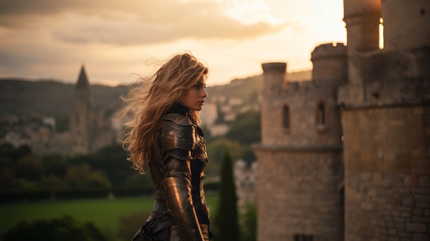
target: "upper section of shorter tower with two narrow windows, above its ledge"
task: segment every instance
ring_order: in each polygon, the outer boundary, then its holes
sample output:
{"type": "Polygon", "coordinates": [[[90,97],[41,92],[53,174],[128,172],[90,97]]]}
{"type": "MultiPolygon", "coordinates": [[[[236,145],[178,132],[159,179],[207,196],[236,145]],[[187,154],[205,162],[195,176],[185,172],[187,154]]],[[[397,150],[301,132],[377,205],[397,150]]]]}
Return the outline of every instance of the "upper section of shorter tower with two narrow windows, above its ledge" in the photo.
{"type": "MultiPolygon", "coordinates": [[[[280,65],[275,63],[278,67],[280,65]]],[[[315,86],[315,82],[288,82],[284,89],[286,65],[264,71],[262,100],[262,144],[267,146],[341,146],[337,82],[315,86]],[[318,106],[325,106],[325,124],[317,123],[318,106]],[[289,108],[289,128],[283,127],[284,106],[289,108]]]]}

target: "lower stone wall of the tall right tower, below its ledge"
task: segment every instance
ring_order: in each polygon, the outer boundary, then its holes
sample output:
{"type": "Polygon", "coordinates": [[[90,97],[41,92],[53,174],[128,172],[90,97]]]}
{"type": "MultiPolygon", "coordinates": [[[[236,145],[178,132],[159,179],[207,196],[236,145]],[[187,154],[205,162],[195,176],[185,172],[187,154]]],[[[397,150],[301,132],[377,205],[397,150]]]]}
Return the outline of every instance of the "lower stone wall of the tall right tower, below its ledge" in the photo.
{"type": "Polygon", "coordinates": [[[346,240],[429,240],[430,106],[346,109],[346,240]]]}

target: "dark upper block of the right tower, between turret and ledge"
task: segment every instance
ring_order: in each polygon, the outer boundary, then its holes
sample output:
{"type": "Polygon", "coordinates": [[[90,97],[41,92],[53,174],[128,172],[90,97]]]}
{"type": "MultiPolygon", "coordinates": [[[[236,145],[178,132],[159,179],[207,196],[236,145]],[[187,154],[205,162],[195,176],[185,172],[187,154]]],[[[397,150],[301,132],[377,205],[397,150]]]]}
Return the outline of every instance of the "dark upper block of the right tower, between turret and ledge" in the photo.
{"type": "Polygon", "coordinates": [[[430,102],[430,76],[426,72],[430,48],[374,51],[360,54],[361,82],[339,89],[338,104],[363,106],[409,106],[430,102]]]}

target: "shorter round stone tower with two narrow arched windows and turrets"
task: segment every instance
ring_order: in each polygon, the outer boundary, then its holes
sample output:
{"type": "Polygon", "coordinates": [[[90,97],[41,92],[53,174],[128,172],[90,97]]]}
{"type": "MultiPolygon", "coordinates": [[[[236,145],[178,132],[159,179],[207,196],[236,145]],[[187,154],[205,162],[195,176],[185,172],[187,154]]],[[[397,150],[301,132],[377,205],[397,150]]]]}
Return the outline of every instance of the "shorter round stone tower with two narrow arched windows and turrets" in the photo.
{"type": "Polygon", "coordinates": [[[337,89],[346,47],[320,45],[313,80],[286,81],[286,63],[262,65],[258,240],[341,240],[343,163],[337,89]]]}

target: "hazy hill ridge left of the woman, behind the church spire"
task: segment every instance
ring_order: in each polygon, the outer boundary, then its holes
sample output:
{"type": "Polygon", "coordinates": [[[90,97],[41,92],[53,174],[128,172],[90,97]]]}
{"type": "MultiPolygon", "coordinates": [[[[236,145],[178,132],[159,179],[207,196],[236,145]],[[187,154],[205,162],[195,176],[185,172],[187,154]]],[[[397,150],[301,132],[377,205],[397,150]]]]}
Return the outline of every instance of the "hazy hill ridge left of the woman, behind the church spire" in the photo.
{"type": "MultiPolygon", "coordinates": [[[[55,80],[0,79],[0,114],[69,116],[74,87],[55,80]]],[[[91,91],[94,108],[109,112],[122,106],[120,95],[126,95],[128,88],[91,85],[91,91]]]]}

